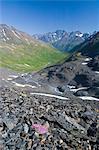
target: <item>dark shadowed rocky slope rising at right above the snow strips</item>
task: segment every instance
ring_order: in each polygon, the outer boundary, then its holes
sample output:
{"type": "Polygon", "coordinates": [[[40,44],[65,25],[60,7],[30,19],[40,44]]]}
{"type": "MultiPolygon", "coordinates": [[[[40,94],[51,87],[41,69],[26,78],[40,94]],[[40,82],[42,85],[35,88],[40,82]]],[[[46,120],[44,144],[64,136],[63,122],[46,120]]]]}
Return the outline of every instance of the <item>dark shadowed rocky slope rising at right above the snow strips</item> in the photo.
{"type": "Polygon", "coordinates": [[[45,68],[39,74],[39,80],[42,76],[42,82],[56,86],[63,93],[68,84],[70,87],[87,88],[81,90],[83,96],[83,91],[86,91],[85,95],[99,98],[99,32],[79,45],[68,61],[45,68]]]}

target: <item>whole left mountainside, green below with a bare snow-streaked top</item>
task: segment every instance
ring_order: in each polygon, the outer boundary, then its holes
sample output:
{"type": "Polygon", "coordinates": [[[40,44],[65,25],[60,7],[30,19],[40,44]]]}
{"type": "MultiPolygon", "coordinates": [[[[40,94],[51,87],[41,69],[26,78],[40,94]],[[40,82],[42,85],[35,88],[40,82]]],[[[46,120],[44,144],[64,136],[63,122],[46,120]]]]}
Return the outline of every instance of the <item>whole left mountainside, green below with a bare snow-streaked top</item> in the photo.
{"type": "Polygon", "coordinates": [[[36,71],[66,55],[53,46],[5,24],[0,25],[0,65],[18,71],[36,71]]]}

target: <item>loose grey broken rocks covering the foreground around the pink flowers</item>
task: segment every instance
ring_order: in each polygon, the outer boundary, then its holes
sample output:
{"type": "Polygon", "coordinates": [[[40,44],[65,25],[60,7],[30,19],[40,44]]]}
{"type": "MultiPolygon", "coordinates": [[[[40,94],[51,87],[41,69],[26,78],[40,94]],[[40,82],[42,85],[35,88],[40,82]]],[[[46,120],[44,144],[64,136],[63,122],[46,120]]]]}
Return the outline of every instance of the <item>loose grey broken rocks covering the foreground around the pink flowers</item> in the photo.
{"type": "Polygon", "coordinates": [[[0,90],[0,150],[98,150],[98,102],[0,90]],[[32,124],[48,125],[40,135],[32,124]]]}

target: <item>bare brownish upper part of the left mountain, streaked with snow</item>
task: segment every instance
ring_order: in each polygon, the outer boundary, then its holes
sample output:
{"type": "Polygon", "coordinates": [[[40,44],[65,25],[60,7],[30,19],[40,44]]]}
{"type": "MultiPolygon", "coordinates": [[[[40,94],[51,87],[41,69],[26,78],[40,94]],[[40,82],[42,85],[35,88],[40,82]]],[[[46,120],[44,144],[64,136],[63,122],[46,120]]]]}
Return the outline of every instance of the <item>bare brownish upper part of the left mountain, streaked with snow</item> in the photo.
{"type": "Polygon", "coordinates": [[[0,42],[13,43],[13,44],[31,44],[37,40],[33,39],[29,34],[19,31],[13,26],[0,24],[0,42]]]}

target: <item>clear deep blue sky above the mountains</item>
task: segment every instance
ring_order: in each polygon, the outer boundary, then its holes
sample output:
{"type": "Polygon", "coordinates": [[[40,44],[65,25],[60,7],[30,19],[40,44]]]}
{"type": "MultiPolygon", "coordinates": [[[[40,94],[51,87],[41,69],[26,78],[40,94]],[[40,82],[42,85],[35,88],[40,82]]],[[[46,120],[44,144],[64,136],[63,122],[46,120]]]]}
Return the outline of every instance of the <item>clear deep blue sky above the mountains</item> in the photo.
{"type": "Polygon", "coordinates": [[[0,0],[0,23],[29,34],[99,30],[99,0],[0,0]]]}

